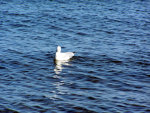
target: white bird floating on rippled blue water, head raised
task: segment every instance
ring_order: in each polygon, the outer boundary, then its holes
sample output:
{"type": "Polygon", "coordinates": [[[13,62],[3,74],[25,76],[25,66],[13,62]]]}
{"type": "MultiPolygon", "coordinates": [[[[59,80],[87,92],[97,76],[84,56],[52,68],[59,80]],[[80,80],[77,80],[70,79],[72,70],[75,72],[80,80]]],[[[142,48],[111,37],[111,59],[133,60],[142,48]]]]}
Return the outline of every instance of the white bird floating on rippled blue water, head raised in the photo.
{"type": "Polygon", "coordinates": [[[73,52],[62,53],[61,52],[61,47],[58,46],[56,54],[55,54],[55,60],[64,60],[64,61],[67,61],[67,60],[71,59],[73,56],[74,56],[73,52]]]}

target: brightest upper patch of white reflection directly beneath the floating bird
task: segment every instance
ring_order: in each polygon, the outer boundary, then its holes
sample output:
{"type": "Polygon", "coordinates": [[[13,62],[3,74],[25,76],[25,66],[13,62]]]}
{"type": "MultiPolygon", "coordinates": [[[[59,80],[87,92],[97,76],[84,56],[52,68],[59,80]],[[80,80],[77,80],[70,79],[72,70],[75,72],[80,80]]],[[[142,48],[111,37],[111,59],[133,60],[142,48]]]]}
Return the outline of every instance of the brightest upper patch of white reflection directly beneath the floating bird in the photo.
{"type": "Polygon", "coordinates": [[[64,69],[64,66],[69,66],[69,60],[55,60],[55,73],[60,74],[64,69]]]}

